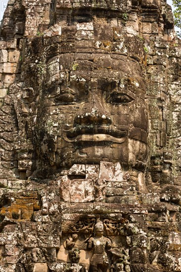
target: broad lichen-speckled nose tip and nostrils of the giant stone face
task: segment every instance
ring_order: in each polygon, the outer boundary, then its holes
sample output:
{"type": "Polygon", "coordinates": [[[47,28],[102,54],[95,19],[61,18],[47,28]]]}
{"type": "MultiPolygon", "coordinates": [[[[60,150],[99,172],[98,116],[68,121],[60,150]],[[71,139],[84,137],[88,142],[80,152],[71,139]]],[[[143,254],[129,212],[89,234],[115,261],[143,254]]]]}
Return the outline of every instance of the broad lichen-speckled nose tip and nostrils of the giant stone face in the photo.
{"type": "Polygon", "coordinates": [[[97,109],[96,106],[92,107],[84,113],[78,114],[74,119],[74,125],[82,126],[110,126],[112,124],[111,118],[106,112],[97,109]]]}

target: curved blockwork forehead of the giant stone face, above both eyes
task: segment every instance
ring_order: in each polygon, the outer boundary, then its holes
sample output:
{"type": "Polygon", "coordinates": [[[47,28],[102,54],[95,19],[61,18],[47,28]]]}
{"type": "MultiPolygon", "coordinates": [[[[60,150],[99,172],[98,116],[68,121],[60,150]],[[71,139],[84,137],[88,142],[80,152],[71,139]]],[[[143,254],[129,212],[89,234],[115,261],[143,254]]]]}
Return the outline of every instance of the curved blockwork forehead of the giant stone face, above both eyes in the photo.
{"type": "Polygon", "coordinates": [[[134,58],[118,54],[70,53],[48,61],[44,92],[54,94],[65,88],[86,93],[91,89],[132,91],[144,98],[145,80],[134,58]]]}

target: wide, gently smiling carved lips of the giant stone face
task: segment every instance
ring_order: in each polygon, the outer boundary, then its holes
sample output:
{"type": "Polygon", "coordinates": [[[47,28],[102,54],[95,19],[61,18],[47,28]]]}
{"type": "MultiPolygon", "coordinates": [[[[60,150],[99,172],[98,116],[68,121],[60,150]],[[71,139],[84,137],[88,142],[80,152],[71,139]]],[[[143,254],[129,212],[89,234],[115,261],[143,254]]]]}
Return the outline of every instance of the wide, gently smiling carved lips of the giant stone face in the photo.
{"type": "Polygon", "coordinates": [[[64,140],[74,141],[112,141],[122,143],[127,138],[127,131],[118,131],[109,127],[76,127],[66,131],[64,140]]]}

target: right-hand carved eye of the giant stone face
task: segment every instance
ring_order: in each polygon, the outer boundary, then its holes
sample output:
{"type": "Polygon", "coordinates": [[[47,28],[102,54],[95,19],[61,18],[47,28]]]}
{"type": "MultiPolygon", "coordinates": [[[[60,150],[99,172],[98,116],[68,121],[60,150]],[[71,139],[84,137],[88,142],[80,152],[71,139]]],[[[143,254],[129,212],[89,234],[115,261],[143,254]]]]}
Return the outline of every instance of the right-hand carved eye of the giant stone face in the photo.
{"type": "Polygon", "coordinates": [[[131,101],[133,101],[133,98],[122,91],[112,91],[109,97],[106,99],[106,102],[116,105],[127,104],[131,101]]]}

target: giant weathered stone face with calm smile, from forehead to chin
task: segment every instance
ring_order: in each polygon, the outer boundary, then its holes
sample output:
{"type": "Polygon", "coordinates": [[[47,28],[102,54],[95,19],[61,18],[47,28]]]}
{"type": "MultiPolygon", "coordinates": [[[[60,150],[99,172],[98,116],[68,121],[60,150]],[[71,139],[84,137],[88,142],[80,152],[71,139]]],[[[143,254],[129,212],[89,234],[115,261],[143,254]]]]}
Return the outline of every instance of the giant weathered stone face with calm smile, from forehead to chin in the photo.
{"type": "Polygon", "coordinates": [[[100,161],[144,167],[148,121],[140,60],[130,57],[126,41],[120,43],[124,53],[107,44],[102,50],[92,40],[87,51],[80,43],[62,52],[60,43],[48,56],[37,116],[38,167],[100,161]]]}

